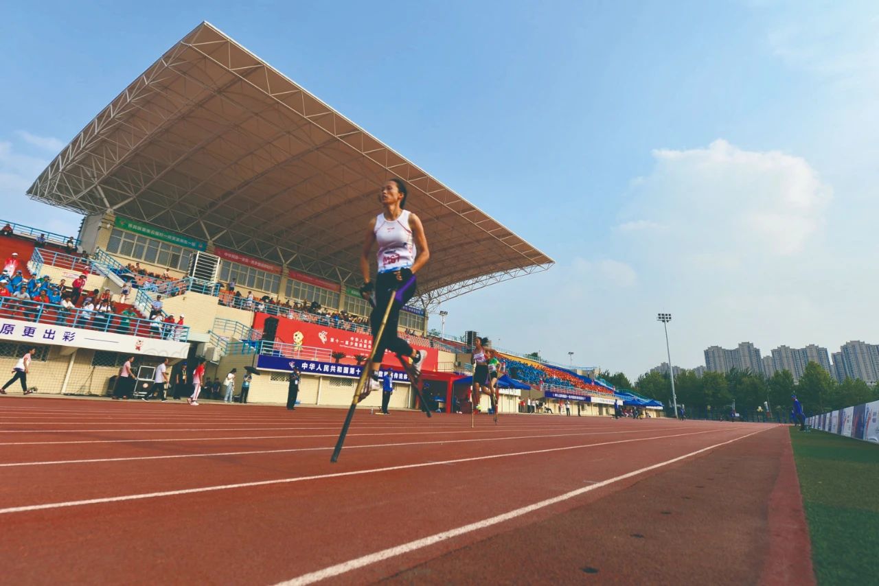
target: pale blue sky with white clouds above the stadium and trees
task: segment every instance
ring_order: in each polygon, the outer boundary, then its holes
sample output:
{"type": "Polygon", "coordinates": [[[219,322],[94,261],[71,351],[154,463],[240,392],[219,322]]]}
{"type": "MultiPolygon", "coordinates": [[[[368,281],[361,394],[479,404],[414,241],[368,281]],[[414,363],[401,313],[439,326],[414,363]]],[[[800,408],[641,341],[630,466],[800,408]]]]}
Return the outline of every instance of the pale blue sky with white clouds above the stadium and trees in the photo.
{"type": "Polygon", "coordinates": [[[76,231],[25,188],[201,20],[556,259],[447,303],[447,332],[631,377],[665,360],[657,311],[683,366],[879,342],[879,4],[22,4],[0,21],[12,220],[76,231]]]}

